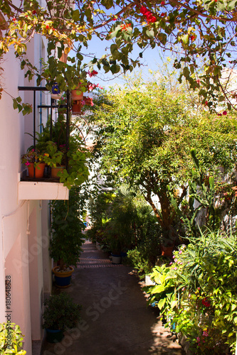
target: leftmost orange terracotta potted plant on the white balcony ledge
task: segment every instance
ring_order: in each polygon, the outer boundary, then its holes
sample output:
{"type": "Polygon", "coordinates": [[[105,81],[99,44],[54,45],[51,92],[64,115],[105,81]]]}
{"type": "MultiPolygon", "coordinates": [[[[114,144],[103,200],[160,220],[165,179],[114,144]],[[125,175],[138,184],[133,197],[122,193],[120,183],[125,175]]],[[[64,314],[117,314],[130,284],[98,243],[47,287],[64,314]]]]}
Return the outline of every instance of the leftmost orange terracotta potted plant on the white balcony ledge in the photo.
{"type": "Polygon", "coordinates": [[[27,152],[21,155],[21,163],[28,168],[28,175],[30,178],[43,178],[46,163],[44,162],[44,153],[29,147],[27,152]]]}

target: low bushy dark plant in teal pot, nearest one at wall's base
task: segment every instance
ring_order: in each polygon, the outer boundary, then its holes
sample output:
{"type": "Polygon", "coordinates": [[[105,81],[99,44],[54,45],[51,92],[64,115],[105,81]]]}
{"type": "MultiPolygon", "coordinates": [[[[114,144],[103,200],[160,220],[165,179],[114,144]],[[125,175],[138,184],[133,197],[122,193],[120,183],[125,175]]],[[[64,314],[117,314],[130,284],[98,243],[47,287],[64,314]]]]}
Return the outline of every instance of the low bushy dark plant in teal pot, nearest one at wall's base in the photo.
{"type": "Polygon", "coordinates": [[[72,329],[80,319],[81,306],[73,302],[68,293],[51,295],[43,302],[43,328],[46,329],[46,340],[51,343],[60,342],[66,328],[72,329]]]}

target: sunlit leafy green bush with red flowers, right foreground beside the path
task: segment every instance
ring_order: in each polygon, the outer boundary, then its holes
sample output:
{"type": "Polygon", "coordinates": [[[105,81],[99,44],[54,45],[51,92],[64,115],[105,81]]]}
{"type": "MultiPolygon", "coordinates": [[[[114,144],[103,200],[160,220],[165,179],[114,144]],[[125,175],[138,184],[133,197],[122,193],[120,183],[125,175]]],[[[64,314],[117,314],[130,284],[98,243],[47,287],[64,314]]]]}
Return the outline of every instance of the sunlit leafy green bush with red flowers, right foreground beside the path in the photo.
{"type": "Polygon", "coordinates": [[[180,246],[171,266],[155,267],[157,285],[145,290],[167,326],[187,337],[191,354],[234,354],[236,276],[236,236],[209,231],[180,246]]]}

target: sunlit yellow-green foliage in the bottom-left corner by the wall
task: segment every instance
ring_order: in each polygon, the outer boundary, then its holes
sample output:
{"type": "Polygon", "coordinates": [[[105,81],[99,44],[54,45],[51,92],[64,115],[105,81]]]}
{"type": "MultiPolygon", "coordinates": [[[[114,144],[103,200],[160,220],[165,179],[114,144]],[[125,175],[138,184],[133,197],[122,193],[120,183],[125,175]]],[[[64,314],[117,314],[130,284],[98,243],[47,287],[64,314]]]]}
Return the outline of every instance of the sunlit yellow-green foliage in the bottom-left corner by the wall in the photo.
{"type": "Polygon", "coordinates": [[[23,335],[19,325],[15,323],[0,323],[1,354],[24,355],[22,350],[23,335]]]}

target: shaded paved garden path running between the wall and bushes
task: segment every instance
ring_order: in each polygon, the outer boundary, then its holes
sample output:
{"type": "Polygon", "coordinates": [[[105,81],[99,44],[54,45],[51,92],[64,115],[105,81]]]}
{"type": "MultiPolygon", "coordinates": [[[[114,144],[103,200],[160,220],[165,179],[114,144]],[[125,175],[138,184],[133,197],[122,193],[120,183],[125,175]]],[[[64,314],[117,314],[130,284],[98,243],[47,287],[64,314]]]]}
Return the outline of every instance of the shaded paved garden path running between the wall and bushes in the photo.
{"type": "Polygon", "coordinates": [[[174,335],[147,307],[132,268],[114,265],[85,241],[70,293],[83,306],[78,327],[58,344],[43,341],[41,355],[183,355],[174,335]]]}

